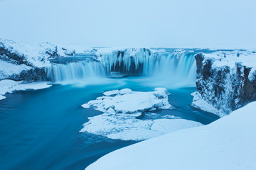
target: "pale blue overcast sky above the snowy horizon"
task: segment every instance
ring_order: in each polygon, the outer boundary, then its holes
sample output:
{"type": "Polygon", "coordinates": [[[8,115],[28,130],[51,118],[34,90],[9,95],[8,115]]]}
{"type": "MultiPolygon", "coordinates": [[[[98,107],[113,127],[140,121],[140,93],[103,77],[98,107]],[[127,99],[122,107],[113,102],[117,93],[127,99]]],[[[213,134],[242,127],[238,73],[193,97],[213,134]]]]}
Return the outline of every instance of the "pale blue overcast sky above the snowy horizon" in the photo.
{"type": "Polygon", "coordinates": [[[256,0],[0,0],[0,38],[89,47],[256,47],[256,0]]]}

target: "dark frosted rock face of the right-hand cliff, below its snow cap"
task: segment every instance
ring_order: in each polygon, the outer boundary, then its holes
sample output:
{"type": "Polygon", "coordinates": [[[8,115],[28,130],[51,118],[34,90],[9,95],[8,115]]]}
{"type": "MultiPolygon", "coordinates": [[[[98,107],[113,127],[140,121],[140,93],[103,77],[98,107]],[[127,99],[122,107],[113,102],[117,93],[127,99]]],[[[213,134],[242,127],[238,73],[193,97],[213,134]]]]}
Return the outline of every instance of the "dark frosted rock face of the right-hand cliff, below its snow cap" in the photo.
{"type": "Polygon", "coordinates": [[[230,113],[250,101],[256,101],[256,79],[248,79],[251,68],[240,63],[236,63],[235,68],[213,68],[213,59],[205,59],[202,54],[195,58],[197,90],[215,108],[230,113]]]}

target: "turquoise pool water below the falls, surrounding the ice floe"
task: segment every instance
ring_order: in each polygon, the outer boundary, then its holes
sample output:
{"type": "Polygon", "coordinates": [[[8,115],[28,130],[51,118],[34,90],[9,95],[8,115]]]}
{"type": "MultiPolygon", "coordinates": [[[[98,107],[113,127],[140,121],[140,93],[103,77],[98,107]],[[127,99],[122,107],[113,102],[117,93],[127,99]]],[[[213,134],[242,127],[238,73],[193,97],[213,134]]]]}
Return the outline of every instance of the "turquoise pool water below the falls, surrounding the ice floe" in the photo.
{"type": "MultiPolygon", "coordinates": [[[[81,105],[102,96],[103,91],[123,88],[154,90],[153,84],[147,86],[141,78],[128,77],[87,86],[53,85],[49,89],[6,95],[0,101],[0,169],[85,169],[103,155],[134,144],[79,132],[88,117],[101,114],[81,105]]],[[[203,124],[218,119],[189,106],[193,91],[196,87],[169,89],[169,102],[176,109],[157,113],[203,124]]]]}

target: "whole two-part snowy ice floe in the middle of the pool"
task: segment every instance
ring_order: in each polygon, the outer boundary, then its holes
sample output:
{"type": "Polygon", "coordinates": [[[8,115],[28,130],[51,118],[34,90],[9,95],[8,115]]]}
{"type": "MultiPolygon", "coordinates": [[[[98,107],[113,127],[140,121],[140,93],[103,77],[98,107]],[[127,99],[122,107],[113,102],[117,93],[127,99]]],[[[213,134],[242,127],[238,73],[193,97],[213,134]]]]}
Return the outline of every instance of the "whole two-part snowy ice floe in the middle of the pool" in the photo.
{"type": "MultiPolygon", "coordinates": [[[[103,112],[89,118],[80,132],[89,132],[115,140],[146,140],[183,128],[191,128],[201,123],[177,119],[163,115],[158,119],[144,118],[146,113],[156,109],[174,108],[168,101],[169,92],[165,88],[141,92],[131,89],[106,91],[105,96],[89,101],[83,108],[93,107],[103,112]]],[[[149,114],[150,115],[150,114],[149,114]]]]}

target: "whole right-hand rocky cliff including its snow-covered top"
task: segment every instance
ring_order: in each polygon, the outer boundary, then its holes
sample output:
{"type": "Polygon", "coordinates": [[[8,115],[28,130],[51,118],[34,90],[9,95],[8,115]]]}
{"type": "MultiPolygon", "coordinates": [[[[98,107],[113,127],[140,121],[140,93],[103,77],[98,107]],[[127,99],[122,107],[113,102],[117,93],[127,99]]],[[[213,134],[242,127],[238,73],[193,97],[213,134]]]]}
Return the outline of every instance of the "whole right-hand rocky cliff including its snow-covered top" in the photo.
{"type": "Polygon", "coordinates": [[[224,113],[256,101],[254,52],[214,52],[195,58],[196,87],[205,101],[224,113]]]}

